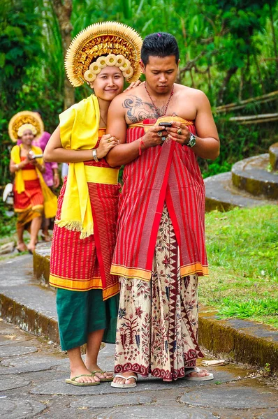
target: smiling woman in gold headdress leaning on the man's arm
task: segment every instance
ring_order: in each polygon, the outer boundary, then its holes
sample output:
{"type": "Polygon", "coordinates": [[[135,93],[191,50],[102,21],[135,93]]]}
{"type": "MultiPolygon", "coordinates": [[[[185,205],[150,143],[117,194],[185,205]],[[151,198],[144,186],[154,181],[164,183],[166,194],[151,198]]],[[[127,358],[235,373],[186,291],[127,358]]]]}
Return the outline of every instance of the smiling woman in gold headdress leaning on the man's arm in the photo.
{"type": "Polygon", "coordinates": [[[134,83],[140,76],[141,43],[133,29],[115,22],[94,24],[75,37],[66,73],[73,86],[86,81],[94,95],[60,115],[45,148],[45,161],[70,162],[52,237],[50,284],[57,287],[61,348],[70,360],[66,383],[73,385],[112,381],[112,373],[97,364],[101,341],[115,342],[119,293],[117,277],[110,274],[119,170],[104,159],[119,142],[105,134],[105,126],[124,79],[134,83]]]}

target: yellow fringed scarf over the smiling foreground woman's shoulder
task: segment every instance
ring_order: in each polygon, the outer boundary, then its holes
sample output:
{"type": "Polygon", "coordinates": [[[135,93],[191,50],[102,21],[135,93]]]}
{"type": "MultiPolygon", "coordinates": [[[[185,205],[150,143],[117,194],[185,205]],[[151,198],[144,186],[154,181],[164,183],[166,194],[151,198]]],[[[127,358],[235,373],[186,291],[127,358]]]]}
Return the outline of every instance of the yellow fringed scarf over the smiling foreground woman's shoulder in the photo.
{"type": "MultiPolygon", "coordinates": [[[[61,113],[59,115],[61,145],[73,150],[93,149],[98,141],[99,115],[98,99],[94,95],[61,113]]],[[[61,219],[56,220],[55,223],[68,230],[80,231],[80,239],[94,233],[92,208],[83,162],[69,164],[61,219]]]]}

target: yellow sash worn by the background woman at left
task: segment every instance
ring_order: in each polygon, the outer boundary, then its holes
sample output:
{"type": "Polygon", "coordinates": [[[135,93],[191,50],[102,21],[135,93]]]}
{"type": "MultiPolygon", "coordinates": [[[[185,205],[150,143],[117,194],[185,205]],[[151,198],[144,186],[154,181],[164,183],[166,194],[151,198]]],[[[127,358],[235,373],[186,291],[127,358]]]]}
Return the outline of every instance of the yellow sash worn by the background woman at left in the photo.
{"type": "MultiPolygon", "coordinates": [[[[34,154],[43,154],[43,151],[40,147],[35,147],[34,145],[31,146],[31,151],[34,154]]],[[[12,148],[10,153],[10,158],[13,160],[15,164],[20,164],[20,145],[15,145],[12,148]]],[[[39,164],[43,164],[43,158],[37,159],[39,164]]],[[[45,180],[43,179],[43,175],[41,174],[38,168],[36,169],[36,173],[38,175],[38,179],[40,180],[41,189],[43,191],[43,200],[44,200],[44,211],[45,211],[45,218],[52,218],[56,215],[57,212],[57,196],[49,189],[45,180]]],[[[17,170],[15,172],[15,190],[17,193],[22,193],[25,191],[24,179],[23,179],[23,172],[22,170],[17,170]]]]}

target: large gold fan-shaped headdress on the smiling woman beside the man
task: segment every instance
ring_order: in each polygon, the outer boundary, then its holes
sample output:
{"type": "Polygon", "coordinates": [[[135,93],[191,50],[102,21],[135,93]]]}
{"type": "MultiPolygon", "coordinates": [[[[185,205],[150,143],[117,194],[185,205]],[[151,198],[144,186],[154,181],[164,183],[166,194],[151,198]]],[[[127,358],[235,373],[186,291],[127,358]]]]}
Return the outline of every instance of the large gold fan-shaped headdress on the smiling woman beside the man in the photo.
{"type": "Polygon", "coordinates": [[[65,59],[68,80],[78,87],[85,81],[93,82],[102,68],[117,66],[127,82],[135,82],[141,74],[141,46],[140,35],[125,24],[92,24],[75,36],[68,47],[65,59]]]}

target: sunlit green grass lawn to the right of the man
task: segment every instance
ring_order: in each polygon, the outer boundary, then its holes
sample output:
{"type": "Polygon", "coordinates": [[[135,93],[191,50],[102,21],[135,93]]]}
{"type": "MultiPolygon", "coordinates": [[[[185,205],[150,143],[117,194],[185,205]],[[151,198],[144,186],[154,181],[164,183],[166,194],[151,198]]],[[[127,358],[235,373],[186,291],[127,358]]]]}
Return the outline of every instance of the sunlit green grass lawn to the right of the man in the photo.
{"type": "Polygon", "coordinates": [[[249,318],[278,328],[278,207],[206,214],[210,276],[200,302],[221,318],[249,318]]]}

